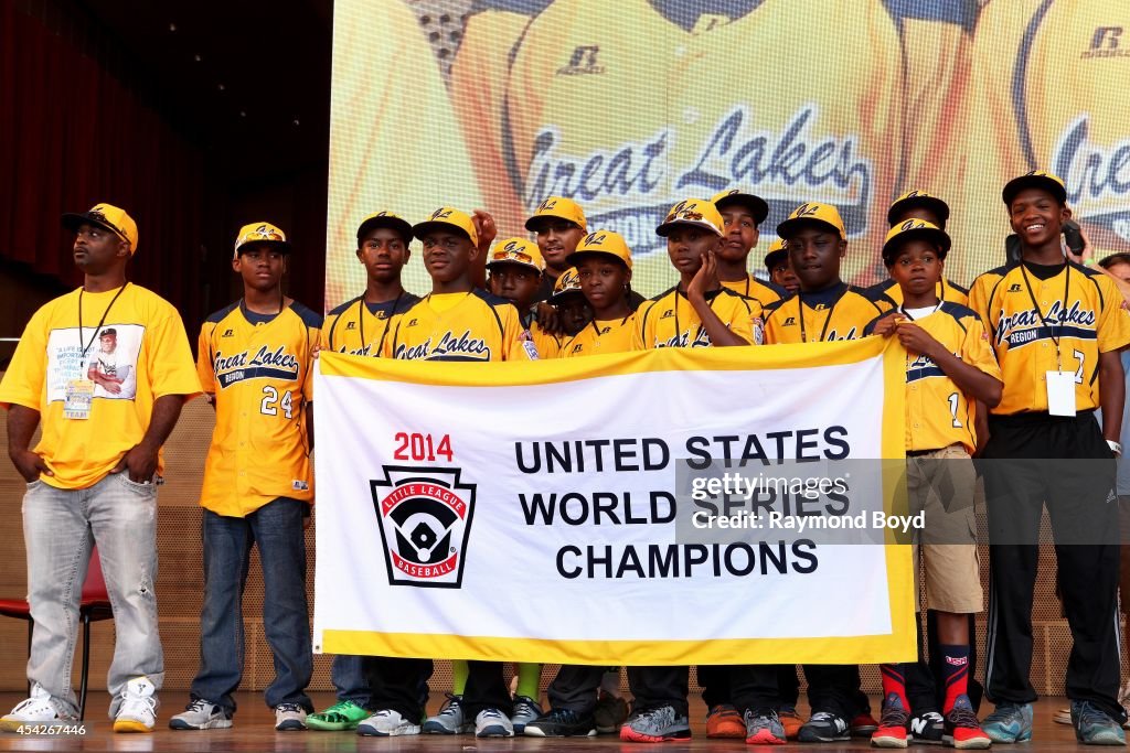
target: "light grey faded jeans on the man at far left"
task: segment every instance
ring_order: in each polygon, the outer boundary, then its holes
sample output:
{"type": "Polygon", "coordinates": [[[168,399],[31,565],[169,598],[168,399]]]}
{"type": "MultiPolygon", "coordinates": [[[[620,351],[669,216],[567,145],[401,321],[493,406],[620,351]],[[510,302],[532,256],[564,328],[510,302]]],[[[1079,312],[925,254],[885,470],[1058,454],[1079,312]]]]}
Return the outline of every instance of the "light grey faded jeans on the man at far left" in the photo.
{"type": "Polygon", "coordinates": [[[90,548],[114,608],[114,659],[106,675],[110,717],[125,683],[147,676],[159,690],[165,659],[157,634],[157,487],[112,473],[86,489],[43,481],[24,494],[27,592],[35,628],[27,678],[51,693],[61,716],[78,716],[71,665],[78,641],[78,605],[90,548]]]}

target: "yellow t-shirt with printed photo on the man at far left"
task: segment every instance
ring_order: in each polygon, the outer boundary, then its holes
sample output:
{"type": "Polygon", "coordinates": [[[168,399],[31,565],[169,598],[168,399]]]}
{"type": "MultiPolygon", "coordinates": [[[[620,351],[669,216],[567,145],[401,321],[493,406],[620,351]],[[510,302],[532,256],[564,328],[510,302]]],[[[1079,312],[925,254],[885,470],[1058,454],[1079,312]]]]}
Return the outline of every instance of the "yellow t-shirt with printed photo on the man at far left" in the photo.
{"type": "Polygon", "coordinates": [[[0,405],[40,412],[35,452],[54,473],[41,480],[60,489],[86,489],[110,473],[141,441],[158,397],[197,394],[180,314],[132,282],[104,292],[80,288],[41,307],[0,383],[0,405]],[[66,418],[68,384],[89,379],[92,371],[98,383],[89,418],[66,418]]]}

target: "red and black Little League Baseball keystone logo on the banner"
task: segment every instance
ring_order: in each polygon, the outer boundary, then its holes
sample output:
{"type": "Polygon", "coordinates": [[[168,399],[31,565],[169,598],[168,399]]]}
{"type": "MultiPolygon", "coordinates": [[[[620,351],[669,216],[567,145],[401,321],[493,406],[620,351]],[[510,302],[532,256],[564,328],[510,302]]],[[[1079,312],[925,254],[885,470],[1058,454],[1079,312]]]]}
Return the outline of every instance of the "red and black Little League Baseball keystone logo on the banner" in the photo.
{"type": "Polygon", "coordinates": [[[475,484],[461,469],[382,466],[370,481],[391,586],[459,588],[463,581],[475,484]]]}

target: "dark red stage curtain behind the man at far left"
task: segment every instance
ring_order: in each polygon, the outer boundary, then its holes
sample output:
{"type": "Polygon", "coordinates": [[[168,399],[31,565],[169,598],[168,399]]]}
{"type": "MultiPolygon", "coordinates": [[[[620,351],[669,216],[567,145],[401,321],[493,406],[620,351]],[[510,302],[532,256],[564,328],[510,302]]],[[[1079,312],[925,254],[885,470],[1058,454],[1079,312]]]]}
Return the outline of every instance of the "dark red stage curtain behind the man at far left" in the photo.
{"type": "Polygon", "coordinates": [[[205,175],[201,150],[80,44],[0,0],[0,255],[78,284],[59,216],[122,207],[138,222],[131,279],[193,332],[207,314],[205,175]]]}

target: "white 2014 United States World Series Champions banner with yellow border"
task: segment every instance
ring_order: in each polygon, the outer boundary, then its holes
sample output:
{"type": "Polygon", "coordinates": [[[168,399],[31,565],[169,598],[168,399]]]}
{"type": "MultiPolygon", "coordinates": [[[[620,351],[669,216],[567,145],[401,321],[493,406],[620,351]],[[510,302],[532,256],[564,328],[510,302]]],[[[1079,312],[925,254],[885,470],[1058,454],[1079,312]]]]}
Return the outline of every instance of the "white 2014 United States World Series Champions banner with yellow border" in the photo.
{"type": "Polygon", "coordinates": [[[909,522],[875,459],[902,457],[903,359],[881,338],[523,364],[323,351],[315,649],[912,660],[892,543],[909,522]]]}

